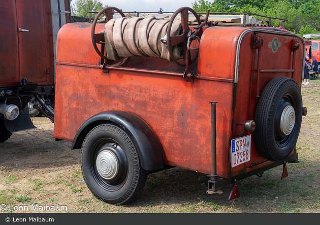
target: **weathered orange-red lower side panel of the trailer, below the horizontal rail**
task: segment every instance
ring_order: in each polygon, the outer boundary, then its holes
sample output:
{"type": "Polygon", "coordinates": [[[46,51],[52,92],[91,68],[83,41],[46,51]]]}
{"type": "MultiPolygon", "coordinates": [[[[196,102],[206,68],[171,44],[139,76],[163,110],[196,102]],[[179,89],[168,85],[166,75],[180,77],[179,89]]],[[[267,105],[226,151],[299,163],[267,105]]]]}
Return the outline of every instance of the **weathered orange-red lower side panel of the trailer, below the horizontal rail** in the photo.
{"type": "Polygon", "coordinates": [[[192,84],[182,78],[121,71],[104,74],[98,69],[66,65],[57,67],[57,80],[60,80],[58,76],[63,76],[63,82],[56,84],[56,90],[63,92],[56,94],[54,136],[57,138],[73,140],[85,120],[101,111],[129,111],[155,132],[167,164],[210,173],[209,102],[223,99],[218,103],[217,119],[226,126],[217,129],[217,146],[222,149],[229,145],[230,134],[224,127],[230,127],[231,104],[225,103],[232,99],[225,93],[232,91],[232,84],[220,86],[217,82],[199,80],[192,84]],[[217,90],[220,94],[212,96],[217,90]]]}

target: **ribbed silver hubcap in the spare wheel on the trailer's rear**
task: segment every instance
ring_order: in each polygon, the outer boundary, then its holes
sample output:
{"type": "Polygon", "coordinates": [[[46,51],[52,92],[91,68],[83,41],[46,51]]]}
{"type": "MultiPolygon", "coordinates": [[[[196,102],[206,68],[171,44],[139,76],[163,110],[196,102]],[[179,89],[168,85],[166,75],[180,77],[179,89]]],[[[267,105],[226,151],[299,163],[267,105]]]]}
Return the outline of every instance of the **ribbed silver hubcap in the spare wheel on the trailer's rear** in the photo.
{"type": "Polygon", "coordinates": [[[289,135],[295,126],[296,114],[295,109],[291,105],[284,107],[281,120],[280,120],[280,129],[283,135],[289,135]]]}

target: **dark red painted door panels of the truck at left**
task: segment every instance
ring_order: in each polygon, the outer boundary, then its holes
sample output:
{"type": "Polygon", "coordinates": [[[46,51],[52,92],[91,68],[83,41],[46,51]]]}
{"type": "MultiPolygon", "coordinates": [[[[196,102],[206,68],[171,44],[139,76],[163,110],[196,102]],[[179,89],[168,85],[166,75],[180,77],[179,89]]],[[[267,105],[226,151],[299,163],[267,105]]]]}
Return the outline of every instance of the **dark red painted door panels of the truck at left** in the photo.
{"type": "Polygon", "coordinates": [[[23,78],[54,84],[50,1],[5,1],[0,14],[0,87],[17,85],[23,78]]]}

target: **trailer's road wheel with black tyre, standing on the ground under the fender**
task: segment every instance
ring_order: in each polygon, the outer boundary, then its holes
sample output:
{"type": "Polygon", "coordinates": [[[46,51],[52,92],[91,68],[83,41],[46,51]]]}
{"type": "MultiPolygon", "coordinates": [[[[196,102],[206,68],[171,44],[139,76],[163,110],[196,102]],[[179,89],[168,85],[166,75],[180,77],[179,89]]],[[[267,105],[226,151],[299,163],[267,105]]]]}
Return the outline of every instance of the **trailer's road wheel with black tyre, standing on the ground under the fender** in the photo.
{"type": "Polygon", "coordinates": [[[91,193],[115,205],[134,200],[148,176],[134,142],[113,124],[99,125],[87,134],[81,148],[81,169],[91,193]]]}

